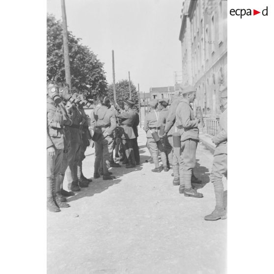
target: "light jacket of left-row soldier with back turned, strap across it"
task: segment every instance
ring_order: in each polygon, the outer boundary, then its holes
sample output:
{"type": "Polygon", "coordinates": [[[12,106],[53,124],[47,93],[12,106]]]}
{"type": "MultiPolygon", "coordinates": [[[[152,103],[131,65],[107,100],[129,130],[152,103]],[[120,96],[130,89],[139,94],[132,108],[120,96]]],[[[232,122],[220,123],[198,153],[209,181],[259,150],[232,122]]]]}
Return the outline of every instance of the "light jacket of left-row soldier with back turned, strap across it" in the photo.
{"type": "Polygon", "coordinates": [[[98,134],[112,135],[116,127],[116,118],[113,110],[107,106],[97,106],[90,117],[91,128],[98,134]]]}

